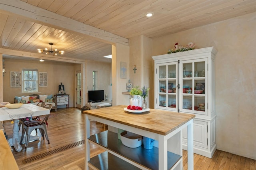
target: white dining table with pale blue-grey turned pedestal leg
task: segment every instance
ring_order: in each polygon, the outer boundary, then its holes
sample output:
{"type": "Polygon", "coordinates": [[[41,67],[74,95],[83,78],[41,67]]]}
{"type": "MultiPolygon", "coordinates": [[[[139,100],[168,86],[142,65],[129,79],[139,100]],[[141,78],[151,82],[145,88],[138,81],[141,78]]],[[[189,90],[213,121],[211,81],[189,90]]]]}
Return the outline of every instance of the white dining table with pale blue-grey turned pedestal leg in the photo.
{"type": "MultiPolygon", "coordinates": [[[[8,109],[7,107],[0,108],[0,121],[14,121],[13,129],[12,129],[12,138],[8,139],[10,146],[14,146],[16,151],[22,150],[22,146],[20,146],[20,136],[19,136],[19,128],[18,123],[20,118],[41,116],[41,115],[49,115],[50,110],[39,107],[33,104],[24,104],[20,108],[17,109],[8,109]]],[[[37,136],[38,138],[38,136],[37,136]]],[[[35,140],[35,139],[34,139],[35,140]]]]}

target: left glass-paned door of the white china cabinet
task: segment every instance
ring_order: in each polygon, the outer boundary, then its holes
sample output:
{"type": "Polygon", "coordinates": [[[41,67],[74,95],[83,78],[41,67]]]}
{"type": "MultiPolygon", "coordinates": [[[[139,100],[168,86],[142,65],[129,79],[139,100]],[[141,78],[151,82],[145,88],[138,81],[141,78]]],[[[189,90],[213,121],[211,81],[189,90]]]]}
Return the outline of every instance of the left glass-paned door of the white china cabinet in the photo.
{"type": "Polygon", "coordinates": [[[164,63],[158,65],[158,92],[157,92],[157,103],[156,107],[161,109],[177,111],[177,62],[164,63]]]}

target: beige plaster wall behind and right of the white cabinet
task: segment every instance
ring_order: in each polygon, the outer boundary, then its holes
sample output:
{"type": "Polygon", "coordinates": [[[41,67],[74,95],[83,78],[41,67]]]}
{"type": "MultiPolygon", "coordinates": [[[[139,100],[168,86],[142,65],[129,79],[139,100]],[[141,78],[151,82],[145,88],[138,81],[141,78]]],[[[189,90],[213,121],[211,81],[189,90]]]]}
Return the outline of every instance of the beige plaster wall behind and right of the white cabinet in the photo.
{"type": "Polygon", "coordinates": [[[216,47],[217,149],[256,159],[256,13],[155,38],[152,55],[176,42],[216,47]]]}

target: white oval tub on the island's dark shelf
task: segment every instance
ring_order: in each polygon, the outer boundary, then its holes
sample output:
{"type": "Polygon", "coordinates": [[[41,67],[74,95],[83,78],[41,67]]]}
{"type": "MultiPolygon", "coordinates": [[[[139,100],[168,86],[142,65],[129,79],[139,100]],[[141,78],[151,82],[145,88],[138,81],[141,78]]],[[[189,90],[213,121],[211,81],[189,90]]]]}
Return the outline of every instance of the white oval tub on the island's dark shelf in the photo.
{"type": "Polygon", "coordinates": [[[120,135],[122,144],[129,148],[137,148],[142,145],[142,136],[132,133],[132,132],[127,132],[124,131],[120,135]]]}

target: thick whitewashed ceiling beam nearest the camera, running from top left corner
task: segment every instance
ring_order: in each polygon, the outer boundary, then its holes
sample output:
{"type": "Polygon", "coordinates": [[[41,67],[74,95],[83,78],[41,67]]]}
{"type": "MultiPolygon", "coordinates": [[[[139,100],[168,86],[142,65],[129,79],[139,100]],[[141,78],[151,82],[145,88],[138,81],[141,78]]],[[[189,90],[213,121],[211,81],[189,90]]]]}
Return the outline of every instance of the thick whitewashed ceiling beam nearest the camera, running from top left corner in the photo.
{"type": "Polygon", "coordinates": [[[16,14],[31,22],[66,32],[71,32],[73,34],[78,34],[80,36],[90,36],[90,38],[94,38],[101,42],[129,45],[129,40],[127,38],[123,38],[99,28],[83,24],[76,20],[72,20],[20,0],[1,0],[0,12],[7,13],[9,15],[16,14]]]}

